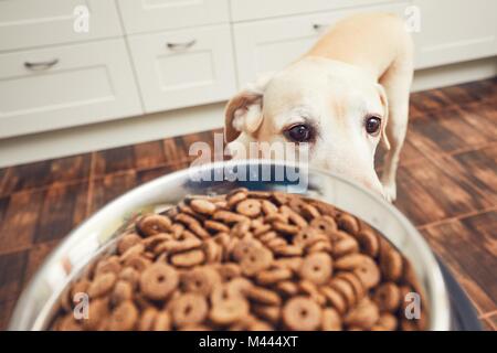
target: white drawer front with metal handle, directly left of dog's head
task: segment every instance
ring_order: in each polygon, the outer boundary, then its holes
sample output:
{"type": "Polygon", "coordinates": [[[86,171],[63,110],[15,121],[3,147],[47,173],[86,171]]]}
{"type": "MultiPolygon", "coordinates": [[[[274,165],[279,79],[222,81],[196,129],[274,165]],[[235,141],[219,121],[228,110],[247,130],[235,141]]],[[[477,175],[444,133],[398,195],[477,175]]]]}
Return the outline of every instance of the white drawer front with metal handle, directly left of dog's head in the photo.
{"type": "Polygon", "coordinates": [[[220,101],[234,92],[228,25],[135,35],[129,46],[147,113],[220,101]]]}

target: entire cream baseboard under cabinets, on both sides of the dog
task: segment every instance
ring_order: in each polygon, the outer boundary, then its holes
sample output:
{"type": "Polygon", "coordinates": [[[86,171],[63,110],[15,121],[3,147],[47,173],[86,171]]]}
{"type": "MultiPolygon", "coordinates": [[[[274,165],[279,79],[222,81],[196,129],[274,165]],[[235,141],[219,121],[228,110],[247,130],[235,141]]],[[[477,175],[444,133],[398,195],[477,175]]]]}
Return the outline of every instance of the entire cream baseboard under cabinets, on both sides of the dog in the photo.
{"type": "MultiPolygon", "coordinates": [[[[413,92],[497,76],[497,56],[417,71],[413,92]]],[[[0,139],[0,168],[220,128],[225,103],[0,139]]]]}

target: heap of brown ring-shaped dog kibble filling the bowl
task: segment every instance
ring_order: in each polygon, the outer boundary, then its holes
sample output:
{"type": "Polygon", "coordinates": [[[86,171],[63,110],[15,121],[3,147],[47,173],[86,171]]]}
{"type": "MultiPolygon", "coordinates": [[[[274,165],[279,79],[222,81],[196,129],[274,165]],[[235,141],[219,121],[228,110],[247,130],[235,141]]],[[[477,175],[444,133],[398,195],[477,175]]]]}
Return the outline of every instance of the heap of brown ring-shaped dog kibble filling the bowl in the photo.
{"type": "Polygon", "coordinates": [[[362,221],[237,189],[139,216],[67,287],[52,329],[423,330],[424,307],[405,315],[411,292],[410,263],[362,221]]]}

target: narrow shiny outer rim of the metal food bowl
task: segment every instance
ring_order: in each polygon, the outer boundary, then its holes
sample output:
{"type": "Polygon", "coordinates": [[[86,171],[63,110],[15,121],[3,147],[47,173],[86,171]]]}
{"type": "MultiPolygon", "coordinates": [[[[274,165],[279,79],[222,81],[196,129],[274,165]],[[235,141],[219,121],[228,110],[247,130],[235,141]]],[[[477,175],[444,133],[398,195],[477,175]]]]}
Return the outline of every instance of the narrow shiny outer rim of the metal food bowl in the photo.
{"type": "MultiPolygon", "coordinates": [[[[184,169],[173,171],[171,173],[161,175],[155,180],[148,181],[141,185],[135,186],[131,190],[128,190],[124,194],[114,199],[109,203],[105,204],[101,210],[98,210],[93,215],[88,216],[81,224],[74,227],[63,239],[62,242],[49,254],[49,256],[43,260],[42,265],[39,267],[33,277],[29,280],[28,285],[22,290],[21,295],[18,298],[14,310],[12,311],[12,315],[9,320],[8,330],[9,331],[25,331],[33,330],[33,324],[36,320],[30,321],[30,311],[24,310],[24,308],[29,308],[30,300],[35,297],[36,289],[39,284],[43,280],[43,275],[46,272],[47,268],[52,266],[56,259],[64,253],[71,248],[72,243],[74,243],[74,234],[82,233],[85,228],[89,228],[92,224],[99,222],[99,218],[104,217],[109,210],[113,210],[115,205],[125,204],[127,200],[134,199],[136,194],[146,194],[147,190],[155,189],[158,184],[167,183],[169,180],[181,180],[186,178],[190,178],[192,173],[202,172],[202,171],[212,171],[219,168],[232,168],[235,165],[245,164],[245,165],[274,165],[282,168],[306,168],[309,173],[317,173],[321,175],[326,175],[332,179],[338,179],[340,182],[349,184],[356,189],[359,189],[361,192],[368,194],[368,196],[372,197],[376,202],[381,203],[392,215],[401,223],[403,227],[408,231],[409,234],[413,235],[410,240],[414,242],[416,248],[421,250],[421,256],[424,258],[424,267],[430,268],[429,277],[430,278],[430,288],[426,290],[426,295],[430,298],[430,307],[431,307],[431,315],[430,315],[430,324],[427,330],[433,331],[445,331],[450,330],[451,314],[450,314],[450,300],[447,288],[445,286],[445,280],[442,275],[442,270],[440,268],[436,258],[427,245],[426,240],[423,236],[417,232],[417,229],[411,224],[411,222],[403,215],[393,204],[384,200],[380,194],[374,193],[373,191],[363,188],[356,181],[351,181],[345,179],[343,176],[329,172],[322,168],[309,167],[307,163],[303,162],[288,162],[288,161],[276,161],[276,160],[267,160],[267,159],[258,159],[258,160],[230,160],[230,161],[214,161],[205,164],[187,167],[184,169]],[[436,315],[434,315],[433,308],[437,308],[436,315]]],[[[50,298],[46,299],[49,301],[50,298]]],[[[40,313],[35,315],[40,317],[40,313]]]]}

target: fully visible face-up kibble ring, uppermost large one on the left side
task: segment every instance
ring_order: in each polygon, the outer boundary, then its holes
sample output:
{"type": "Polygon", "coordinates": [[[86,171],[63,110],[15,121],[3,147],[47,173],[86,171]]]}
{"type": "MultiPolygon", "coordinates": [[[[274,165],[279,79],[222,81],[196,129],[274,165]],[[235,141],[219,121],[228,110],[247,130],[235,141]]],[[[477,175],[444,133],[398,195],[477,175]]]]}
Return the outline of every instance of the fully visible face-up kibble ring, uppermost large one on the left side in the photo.
{"type": "Polygon", "coordinates": [[[151,300],[166,299],[179,282],[178,271],[166,264],[156,263],[141,272],[140,289],[151,300]]]}

